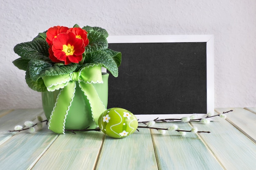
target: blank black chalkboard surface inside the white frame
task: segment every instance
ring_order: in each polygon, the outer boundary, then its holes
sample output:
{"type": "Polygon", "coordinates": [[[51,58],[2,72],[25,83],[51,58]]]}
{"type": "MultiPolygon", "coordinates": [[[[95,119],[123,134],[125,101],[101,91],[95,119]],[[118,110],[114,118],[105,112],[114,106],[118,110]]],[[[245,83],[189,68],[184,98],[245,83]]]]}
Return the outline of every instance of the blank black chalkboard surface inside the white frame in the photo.
{"type": "Polygon", "coordinates": [[[121,51],[122,63],[119,76],[109,77],[108,108],[135,115],[208,113],[207,79],[213,79],[207,75],[208,41],[152,40],[109,43],[121,51]]]}

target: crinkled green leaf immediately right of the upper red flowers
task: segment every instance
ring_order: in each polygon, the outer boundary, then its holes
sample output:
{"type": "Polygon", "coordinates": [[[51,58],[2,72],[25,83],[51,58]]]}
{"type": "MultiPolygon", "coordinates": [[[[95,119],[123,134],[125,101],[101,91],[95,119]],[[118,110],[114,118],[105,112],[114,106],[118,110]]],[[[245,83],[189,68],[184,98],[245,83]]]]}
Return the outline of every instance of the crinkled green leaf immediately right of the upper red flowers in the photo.
{"type": "Polygon", "coordinates": [[[85,47],[85,53],[94,53],[108,48],[108,41],[104,35],[98,32],[88,33],[89,44],[85,47]]]}

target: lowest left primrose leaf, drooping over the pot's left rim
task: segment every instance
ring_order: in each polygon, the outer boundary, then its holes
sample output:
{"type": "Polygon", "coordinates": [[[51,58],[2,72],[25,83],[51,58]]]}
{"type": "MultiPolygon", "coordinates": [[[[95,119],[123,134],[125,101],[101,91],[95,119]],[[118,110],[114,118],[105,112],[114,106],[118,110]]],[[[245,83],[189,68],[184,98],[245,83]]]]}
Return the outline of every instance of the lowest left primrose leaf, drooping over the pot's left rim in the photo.
{"type": "Polygon", "coordinates": [[[38,91],[38,92],[45,92],[47,91],[47,88],[45,86],[45,83],[43,82],[43,79],[40,78],[38,79],[38,81],[34,82],[30,76],[29,76],[29,72],[26,71],[26,75],[25,75],[25,79],[27,82],[27,85],[34,91],[38,91]]]}

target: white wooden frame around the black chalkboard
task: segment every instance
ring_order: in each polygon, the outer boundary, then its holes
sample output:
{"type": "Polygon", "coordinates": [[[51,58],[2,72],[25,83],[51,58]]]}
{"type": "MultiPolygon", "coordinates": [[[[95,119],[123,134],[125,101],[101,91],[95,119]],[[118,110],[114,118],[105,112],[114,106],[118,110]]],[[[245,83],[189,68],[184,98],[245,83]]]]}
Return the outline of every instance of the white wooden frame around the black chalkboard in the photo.
{"type": "MultiPolygon", "coordinates": [[[[147,42],[206,42],[207,43],[207,113],[214,113],[214,36],[213,35],[121,35],[110,36],[108,43],[147,43],[147,42]]],[[[103,69],[103,72],[106,70],[103,69]]],[[[139,121],[159,119],[180,119],[192,114],[152,114],[135,115],[139,121]]],[[[206,114],[197,114],[197,118],[206,114]]]]}

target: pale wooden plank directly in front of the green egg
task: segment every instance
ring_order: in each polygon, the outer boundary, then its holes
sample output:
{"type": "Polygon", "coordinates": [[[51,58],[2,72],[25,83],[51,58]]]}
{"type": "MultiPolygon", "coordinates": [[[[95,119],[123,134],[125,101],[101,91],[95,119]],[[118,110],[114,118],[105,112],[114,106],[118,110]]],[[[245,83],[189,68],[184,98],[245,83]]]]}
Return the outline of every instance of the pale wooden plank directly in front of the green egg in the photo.
{"type": "Polygon", "coordinates": [[[96,170],[158,170],[150,130],[121,139],[106,136],[96,170]]]}

